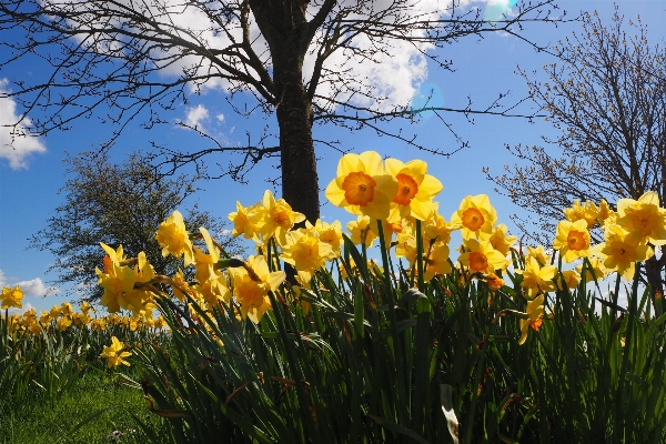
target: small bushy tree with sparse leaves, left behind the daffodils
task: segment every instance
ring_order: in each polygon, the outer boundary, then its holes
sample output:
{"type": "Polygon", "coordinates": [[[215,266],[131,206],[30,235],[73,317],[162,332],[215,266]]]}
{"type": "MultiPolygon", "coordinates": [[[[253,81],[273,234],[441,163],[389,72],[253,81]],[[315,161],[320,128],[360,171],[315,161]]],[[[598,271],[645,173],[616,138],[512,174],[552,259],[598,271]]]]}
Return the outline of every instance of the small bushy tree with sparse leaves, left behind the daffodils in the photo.
{"type": "MultiPolygon", "coordinates": [[[[160,223],[196,189],[194,180],[184,174],[169,179],[158,174],[144,154],[131,154],[124,163],[114,164],[108,154],[82,153],[67,157],[67,179],[61,194],[63,204],[47,221],[47,226],[30,239],[30,246],[50,251],[57,262],[49,271],[59,272],[57,284],[75,284],[70,295],[89,301],[101,297],[103,290],[95,285],[94,269],[103,269],[100,242],[117,249],[122,244],[128,258],[144,251],[158,274],[173,275],[182,260],[169,255],[155,240],[160,223]]],[[[223,233],[226,222],[200,211],[194,203],[183,211],[185,226],[196,233],[205,226],[211,233],[223,233]]],[[[223,243],[230,254],[242,252],[240,243],[226,238],[223,243]]],[[[185,270],[185,273],[190,272],[185,270]]]]}

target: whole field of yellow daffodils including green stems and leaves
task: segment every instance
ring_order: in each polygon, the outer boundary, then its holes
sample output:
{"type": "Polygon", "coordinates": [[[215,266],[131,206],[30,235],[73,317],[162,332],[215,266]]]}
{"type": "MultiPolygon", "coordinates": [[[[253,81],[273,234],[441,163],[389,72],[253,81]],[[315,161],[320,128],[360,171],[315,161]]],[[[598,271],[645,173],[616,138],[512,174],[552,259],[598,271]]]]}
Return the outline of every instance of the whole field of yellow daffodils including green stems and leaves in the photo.
{"type": "MultiPolygon", "coordinates": [[[[190,282],[101,244],[110,314],[6,312],[0,413],[36,386],[58,402],[102,360],[138,372],[119,377],[164,418],[158,436],[135,417],[153,442],[665,442],[666,314],[638,279],[666,243],[656,193],[575,202],[544,248],[484,194],[445,220],[442,188],[423,161],[345,154],[326,198],[353,214],[346,231],[266,191],[229,215],[255,242],[244,260],[174,212],[155,238],[190,282]]],[[[4,289],[2,309],[20,305],[4,289]]]]}

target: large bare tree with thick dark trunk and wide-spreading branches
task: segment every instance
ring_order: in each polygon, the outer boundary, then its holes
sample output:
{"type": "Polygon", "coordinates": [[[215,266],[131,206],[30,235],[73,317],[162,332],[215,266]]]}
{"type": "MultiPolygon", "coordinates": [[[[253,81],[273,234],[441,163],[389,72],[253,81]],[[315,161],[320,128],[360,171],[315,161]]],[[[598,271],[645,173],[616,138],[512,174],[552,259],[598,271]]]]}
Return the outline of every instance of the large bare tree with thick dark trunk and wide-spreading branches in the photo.
{"type": "MultiPolygon", "coordinates": [[[[512,112],[497,100],[481,109],[473,109],[471,103],[458,109],[427,103],[413,109],[408,105],[411,94],[404,93],[413,88],[412,80],[383,90],[372,82],[374,67],[407,54],[420,63],[427,59],[450,70],[451,61],[427,51],[466,36],[481,38],[490,32],[527,41],[519,34],[525,23],[563,21],[562,16],[551,17],[551,8],[557,8],[554,0],[522,1],[512,7],[511,13],[492,21],[483,17],[483,8],[463,8],[460,0],[444,3],[4,0],[0,2],[0,30],[3,36],[20,37],[0,43],[11,51],[0,68],[37,56],[41,59],[36,60],[46,61],[51,71],[42,83],[16,80],[18,89],[4,97],[22,104],[22,120],[30,112],[43,113],[41,118],[31,117],[28,132],[21,121],[17,122],[17,137],[68,129],[75,119],[110,105],[103,120],[119,128],[111,143],[142,112],[148,114],[143,123],[147,128],[167,122],[160,112],[172,110],[179,101],[186,102],[188,88],[196,92],[220,87],[229,93],[226,100],[236,112],[274,114],[278,144],[270,144],[268,132],[254,134],[254,143],[249,137],[246,147],[225,147],[202,133],[213,148],[192,152],[164,148],[168,158],[163,164],[173,169],[188,163],[202,167],[202,159],[209,154],[235,152],[240,160],[225,173],[243,180],[244,173],[261,160],[279,157],[282,196],[314,221],[320,206],[314,122],[367,128],[408,145],[443,153],[440,148],[421,145],[415,135],[391,131],[385,123],[395,119],[412,122],[426,110],[461,112],[467,119],[476,113],[512,112]],[[178,72],[178,77],[160,75],[164,72],[178,72]],[[248,103],[250,111],[244,108],[248,103]]],[[[447,128],[451,130],[451,125],[447,128]]],[[[335,141],[317,142],[336,147],[335,141]]]]}

